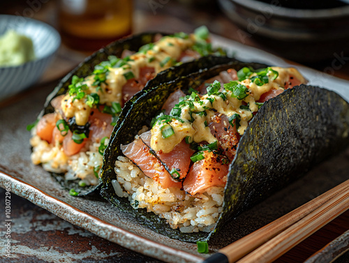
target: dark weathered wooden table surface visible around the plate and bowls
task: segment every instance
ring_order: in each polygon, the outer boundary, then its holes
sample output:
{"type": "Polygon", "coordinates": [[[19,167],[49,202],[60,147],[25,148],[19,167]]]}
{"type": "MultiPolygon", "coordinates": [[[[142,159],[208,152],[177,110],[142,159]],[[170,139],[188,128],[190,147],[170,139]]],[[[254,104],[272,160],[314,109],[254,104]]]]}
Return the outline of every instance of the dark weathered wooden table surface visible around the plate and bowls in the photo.
{"type": "MultiPolygon", "coordinates": [[[[14,6],[9,3],[1,3],[0,13],[21,14],[22,10],[27,7],[27,3],[23,4],[23,2],[18,1],[14,6]]],[[[202,6],[182,3],[185,1],[167,1],[168,3],[156,9],[156,14],[154,10],[151,10],[150,2],[148,0],[134,1],[133,28],[135,33],[152,30],[191,32],[196,27],[205,24],[211,32],[241,42],[239,36],[232,33],[239,30],[238,27],[221,13],[214,1],[204,1],[205,5],[202,6]]],[[[34,18],[55,25],[56,5],[57,1],[45,1],[40,6],[40,10],[34,14],[34,18]]],[[[274,52],[271,46],[262,45],[253,36],[246,39],[245,44],[280,55],[279,52],[274,52]]],[[[29,90],[1,103],[0,107],[6,107],[32,92],[50,93],[58,80],[86,56],[87,53],[69,50],[62,45],[57,58],[41,80],[29,90]]],[[[331,64],[332,59],[328,59],[316,63],[309,62],[307,66],[324,70],[331,64]]],[[[349,80],[349,65],[344,64],[338,70],[334,70],[334,75],[349,80]]],[[[4,222],[5,190],[1,188],[0,202],[0,221],[4,222]]],[[[12,194],[11,217],[14,225],[12,239],[17,249],[15,258],[10,262],[160,262],[101,239],[14,194],[12,194]]],[[[312,253],[348,229],[349,211],[300,243],[276,262],[303,262],[312,253]]],[[[3,231],[4,228],[1,226],[0,232],[3,233],[3,231]]],[[[1,234],[1,236],[4,235],[1,234]]],[[[0,262],[9,262],[5,257],[1,257],[3,255],[1,253],[2,251],[0,251],[0,262]]],[[[336,262],[349,262],[349,253],[339,257],[336,262]]]]}

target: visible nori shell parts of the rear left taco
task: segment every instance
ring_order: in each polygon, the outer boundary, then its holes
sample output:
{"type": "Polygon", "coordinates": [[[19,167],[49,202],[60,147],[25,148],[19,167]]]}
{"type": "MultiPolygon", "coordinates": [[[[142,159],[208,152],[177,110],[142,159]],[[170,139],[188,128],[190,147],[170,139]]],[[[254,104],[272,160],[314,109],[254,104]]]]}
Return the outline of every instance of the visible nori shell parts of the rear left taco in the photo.
{"type": "MultiPolygon", "coordinates": [[[[159,32],[151,32],[151,33],[140,33],[135,36],[131,36],[129,38],[123,38],[121,40],[115,41],[110,45],[98,50],[90,57],[87,57],[82,63],[79,64],[76,68],[74,68],[66,77],[64,77],[57,87],[54,88],[54,91],[47,96],[45,101],[44,109],[38,115],[38,119],[43,117],[45,114],[49,114],[54,112],[54,108],[51,105],[51,100],[57,96],[65,94],[68,91],[68,86],[71,84],[71,80],[73,75],[77,75],[78,77],[87,77],[91,75],[94,71],[94,67],[101,63],[102,61],[107,61],[109,56],[121,57],[121,54],[124,50],[133,50],[138,51],[142,45],[146,45],[148,43],[153,42],[154,37],[159,32]]],[[[161,35],[165,36],[167,34],[161,33],[161,35]]],[[[202,57],[195,61],[191,61],[188,63],[184,63],[177,67],[169,68],[168,70],[164,70],[161,73],[158,73],[153,80],[150,80],[147,83],[147,86],[156,87],[162,82],[168,82],[170,80],[174,80],[177,77],[189,75],[193,72],[200,70],[201,68],[211,68],[217,64],[228,63],[232,59],[229,57],[202,57]]],[[[146,86],[146,87],[147,87],[146,86]]],[[[52,176],[67,190],[70,189],[79,189],[80,193],[78,196],[88,195],[89,193],[96,190],[98,186],[86,186],[84,188],[78,185],[76,180],[74,181],[66,181],[64,179],[64,174],[57,174],[52,172],[52,176]]]]}

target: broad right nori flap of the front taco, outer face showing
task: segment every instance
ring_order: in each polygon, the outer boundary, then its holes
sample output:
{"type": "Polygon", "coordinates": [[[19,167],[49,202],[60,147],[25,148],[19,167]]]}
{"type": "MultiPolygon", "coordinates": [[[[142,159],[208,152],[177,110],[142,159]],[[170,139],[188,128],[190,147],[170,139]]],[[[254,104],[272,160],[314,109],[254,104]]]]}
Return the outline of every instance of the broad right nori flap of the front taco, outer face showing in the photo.
{"type": "Polygon", "coordinates": [[[239,142],[216,230],[345,149],[348,133],[349,104],[334,91],[302,84],[268,100],[239,142]]]}

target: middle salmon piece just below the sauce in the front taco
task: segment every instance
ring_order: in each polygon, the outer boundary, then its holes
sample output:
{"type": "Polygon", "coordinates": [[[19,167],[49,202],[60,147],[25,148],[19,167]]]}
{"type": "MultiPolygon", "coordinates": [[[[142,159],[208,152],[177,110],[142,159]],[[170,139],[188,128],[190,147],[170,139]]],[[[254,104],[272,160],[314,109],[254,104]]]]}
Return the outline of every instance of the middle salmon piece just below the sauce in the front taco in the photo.
{"type": "MultiPolygon", "coordinates": [[[[140,135],[142,142],[150,147],[151,131],[143,133],[140,135]]],[[[191,156],[194,151],[190,148],[189,144],[186,144],[184,140],[180,144],[174,146],[174,149],[169,153],[163,153],[162,151],[157,151],[155,153],[156,157],[161,161],[165,170],[172,174],[172,178],[176,181],[181,181],[188,174],[189,166],[191,165],[191,156]],[[176,171],[176,172],[174,172],[176,171]],[[179,178],[176,178],[179,174],[179,178]]]]}

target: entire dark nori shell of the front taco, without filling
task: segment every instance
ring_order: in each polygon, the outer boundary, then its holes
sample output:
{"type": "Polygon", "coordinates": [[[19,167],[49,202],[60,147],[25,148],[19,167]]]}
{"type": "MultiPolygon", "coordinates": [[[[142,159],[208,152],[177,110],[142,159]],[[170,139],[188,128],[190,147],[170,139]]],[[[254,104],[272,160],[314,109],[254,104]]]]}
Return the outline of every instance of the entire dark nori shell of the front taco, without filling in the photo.
{"type": "Polygon", "coordinates": [[[164,219],[154,213],[147,213],[146,209],[133,209],[127,198],[117,197],[112,179],[116,178],[114,162],[117,156],[122,155],[120,144],[132,142],[138,130],[147,124],[146,120],[156,115],[175,89],[186,89],[221,70],[239,70],[243,66],[258,68],[251,63],[235,61],[158,87],[148,87],[131,99],[105,151],[101,173],[103,197],[158,233],[182,241],[208,240],[239,213],[348,146],[349,105],[346,100],[333,91],[301,85],[268,100],[249,123],[230,165],[223,212],[213,232],[181,233],[170,228],[164,219]]]}

